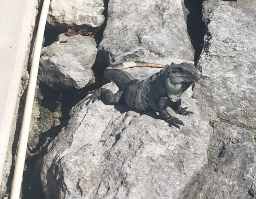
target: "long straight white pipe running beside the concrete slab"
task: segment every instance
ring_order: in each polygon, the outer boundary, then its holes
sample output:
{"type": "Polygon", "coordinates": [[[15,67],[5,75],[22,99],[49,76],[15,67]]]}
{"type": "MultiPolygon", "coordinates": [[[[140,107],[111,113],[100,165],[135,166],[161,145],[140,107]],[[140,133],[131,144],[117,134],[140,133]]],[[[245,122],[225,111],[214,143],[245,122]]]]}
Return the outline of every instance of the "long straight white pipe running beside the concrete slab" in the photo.
{"type": "Polygon", "coordinates": [[[46,18],[48,15],[49,6],[50,6],[50,0],[44,0],[39,23],[38,23],[33,60],[32,60],[32,65],[30,69],[29,85],[27,88],[26,103],[25,103],[24,115],[23,115],[23,120],[21,125],[18,153],[17,153],[17,159],[16,159],[14,176],[13,176],[13,185],[11,187],[11,197],[10,197],[11,199],[19,199],[19,195],[21,192],[22,175],[23,175],[24,163],[25,163],[26,151],[27,151],[27,141],[29,139],[30,120],[31,120],[31,115],[33,110],[35,88],[37,84],[37,73],[38,73],[38,67],[39,67],[39,61],[40,61],[40,55],[41,55],[41,49],[42,49],[42,43],[43,43],[43,34],[45,32],[45,24],[46,24],[46,18]]]}

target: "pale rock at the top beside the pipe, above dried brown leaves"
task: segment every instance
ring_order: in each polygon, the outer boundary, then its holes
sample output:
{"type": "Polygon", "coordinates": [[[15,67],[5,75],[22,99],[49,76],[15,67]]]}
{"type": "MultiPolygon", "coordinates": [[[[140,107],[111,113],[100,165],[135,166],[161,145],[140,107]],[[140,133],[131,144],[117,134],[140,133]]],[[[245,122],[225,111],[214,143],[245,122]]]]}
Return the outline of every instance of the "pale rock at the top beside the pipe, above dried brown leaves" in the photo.
{"type": "Polygon", "coordinates": [[[61,32],[70,27],[98,30],[104,22],[103,0],[51,0],[47,24],[61,32]]]}

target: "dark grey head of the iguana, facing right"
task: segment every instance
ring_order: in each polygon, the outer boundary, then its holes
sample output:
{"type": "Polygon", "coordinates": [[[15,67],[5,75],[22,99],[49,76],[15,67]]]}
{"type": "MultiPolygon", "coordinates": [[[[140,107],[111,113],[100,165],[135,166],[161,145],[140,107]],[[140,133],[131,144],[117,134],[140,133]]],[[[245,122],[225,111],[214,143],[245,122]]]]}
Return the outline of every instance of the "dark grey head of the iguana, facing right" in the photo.
{"type": "Polygon", "coordinates": [[[165,85],[169,91],[179,91],[187,89],[192,83],[198,81],[201,72],[194,64],[183,62],[173,64],[166,71],[165,85]]]}

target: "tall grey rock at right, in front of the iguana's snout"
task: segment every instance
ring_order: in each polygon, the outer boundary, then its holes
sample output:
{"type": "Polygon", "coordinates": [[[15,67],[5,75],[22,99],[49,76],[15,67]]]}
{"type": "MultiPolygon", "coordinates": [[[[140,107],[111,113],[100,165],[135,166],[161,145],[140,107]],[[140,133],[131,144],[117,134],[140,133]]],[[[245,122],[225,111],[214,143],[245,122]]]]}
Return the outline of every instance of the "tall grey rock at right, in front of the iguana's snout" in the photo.
{"type": "Polygon", "coordinates": [[[212,122],[227,121],[256,132],[256,1],[203,2],[207,23],[195,87],[212,122]]]}

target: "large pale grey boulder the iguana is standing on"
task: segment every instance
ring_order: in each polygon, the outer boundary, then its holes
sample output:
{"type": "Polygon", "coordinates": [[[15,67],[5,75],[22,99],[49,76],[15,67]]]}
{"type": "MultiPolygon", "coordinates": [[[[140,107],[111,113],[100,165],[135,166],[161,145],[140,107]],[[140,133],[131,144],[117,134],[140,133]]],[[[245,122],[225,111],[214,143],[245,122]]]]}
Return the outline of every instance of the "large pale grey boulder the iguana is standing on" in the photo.
{"type": "MultiPolygon", "coordinates": [[[[117,90],[114,83],[105,86],[117,90]]],[[[178,197],[207,164],[212,134],[202,105],[184,97],[184,106],[194,115],[177,115],[185,124],[179,130],[154,113],[140,115],[101,101],[86,106],[82,100],[48,146],[41,172],[45,197],[178,197]]]]}

